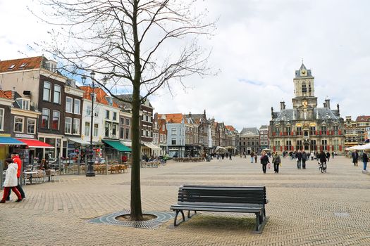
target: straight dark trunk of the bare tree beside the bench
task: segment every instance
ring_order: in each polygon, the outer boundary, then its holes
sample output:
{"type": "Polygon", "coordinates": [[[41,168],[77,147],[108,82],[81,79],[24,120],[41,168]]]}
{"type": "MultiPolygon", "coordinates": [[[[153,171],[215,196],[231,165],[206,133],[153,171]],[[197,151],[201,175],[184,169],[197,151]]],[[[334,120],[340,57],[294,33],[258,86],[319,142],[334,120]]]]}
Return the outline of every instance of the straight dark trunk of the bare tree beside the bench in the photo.
{"type": "Polygon", "coordinates": [[[142,221],[142,200],[140,189],[140,43],[137,36],[137,0],[133,2],[132,34],[134,37],[135,77],[132,82],[132,169],[131,169],[131,214],[132,221],[142,221]]]}

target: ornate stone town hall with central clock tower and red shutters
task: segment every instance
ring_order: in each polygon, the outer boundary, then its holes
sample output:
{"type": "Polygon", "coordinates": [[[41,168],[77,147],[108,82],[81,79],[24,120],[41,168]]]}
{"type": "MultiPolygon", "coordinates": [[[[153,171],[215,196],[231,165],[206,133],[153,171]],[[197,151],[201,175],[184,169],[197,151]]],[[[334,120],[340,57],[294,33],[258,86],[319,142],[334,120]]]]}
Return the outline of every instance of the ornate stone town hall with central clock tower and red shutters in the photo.
{"type": "Polygon", "coordinates": [[[324,150],[343,153],[344,121],[340,117],[339,104],[331,109],[330,100],[325,99],[323,108],[317,105],[314,95],[314,76],[302,63],[295,71],[292,109],[280,102],[280,111],[271,108],[269,138],[274,151],[324,150]]]}

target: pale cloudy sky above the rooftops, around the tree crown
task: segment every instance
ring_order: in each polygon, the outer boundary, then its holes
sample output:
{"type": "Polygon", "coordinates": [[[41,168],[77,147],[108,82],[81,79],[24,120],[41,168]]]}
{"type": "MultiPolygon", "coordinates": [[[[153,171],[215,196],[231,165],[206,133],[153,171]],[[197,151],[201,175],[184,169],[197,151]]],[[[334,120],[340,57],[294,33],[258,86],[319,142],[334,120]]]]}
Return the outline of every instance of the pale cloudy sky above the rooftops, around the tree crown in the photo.
{"type": "MultiPolygon", "coordinates": [[[[269,124],[271,106],[292,108],[293,77],[302,59],[314,75],[318,104],[326,96],[342,117],[369,115],[370,1],[205,0],[217,30],[211,48],[215,77],[189,77],[150,98],[156,112],[201,113],[242,127],[269,124]]],[[[40,56],[48,27],[27,11],[32,0],[0,0],[0,59],[40,56]]]]}

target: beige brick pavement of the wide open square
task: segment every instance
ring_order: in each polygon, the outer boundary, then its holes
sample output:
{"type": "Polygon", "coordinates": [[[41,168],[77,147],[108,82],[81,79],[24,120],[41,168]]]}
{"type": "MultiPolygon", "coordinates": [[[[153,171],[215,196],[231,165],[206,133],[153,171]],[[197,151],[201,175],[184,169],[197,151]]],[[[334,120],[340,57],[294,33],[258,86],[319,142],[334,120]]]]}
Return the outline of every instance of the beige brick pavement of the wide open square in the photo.
{"type": "Polygon", "coordinates": [[[202,212],[176,228],[90,224],[130,208],[130,174],[62,176],[0,205],[0,245],[370,245],[370,176],[360,166],[335,157],[321,174],[316,161],[298,170],[283,159],[279,174],[262,174],[261,164],[234,157],[142,169],[144,211],[169,212],[184,183],[266,186],[262,234],[253,233],[254,214],[202,212]]]}

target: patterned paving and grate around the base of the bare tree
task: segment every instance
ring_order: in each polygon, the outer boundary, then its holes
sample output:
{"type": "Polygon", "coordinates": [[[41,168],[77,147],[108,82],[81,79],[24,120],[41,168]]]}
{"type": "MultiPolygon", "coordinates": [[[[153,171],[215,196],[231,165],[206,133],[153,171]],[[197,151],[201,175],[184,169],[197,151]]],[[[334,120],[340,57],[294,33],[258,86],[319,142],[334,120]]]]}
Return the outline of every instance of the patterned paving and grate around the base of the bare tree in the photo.
{"type": "Polygon", "coordinates": [[[143,214],[152,214],[156,216],[156,218],[151,219],[149,221],[120,221],[116,219],[116,217],[118,216],[123,216],[127,214],[130,214],[130,211],[123,210],[115,212],[113,214],[106,214],[95,219],[90,219],[88,222],[94,224],[109,224],[117,226],[130,226],[142,229],[154,229],[160,226],[161,224],[164,224],[165,222],[169,221],[175,216],[175,214],[171,212],[143,212],[143,214]]]}

